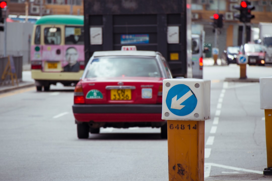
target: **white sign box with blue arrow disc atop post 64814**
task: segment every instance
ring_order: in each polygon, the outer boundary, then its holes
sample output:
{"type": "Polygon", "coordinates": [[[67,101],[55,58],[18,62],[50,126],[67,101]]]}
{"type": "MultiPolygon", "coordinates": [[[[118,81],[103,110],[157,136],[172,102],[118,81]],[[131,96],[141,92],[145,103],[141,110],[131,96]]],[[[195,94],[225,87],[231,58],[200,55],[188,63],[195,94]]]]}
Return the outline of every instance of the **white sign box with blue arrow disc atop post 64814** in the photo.
{"type": "Polygon", "coordinates": [[[211,118],[211,80],[164,79],[162,119],[204,121],[211,118]]]}

